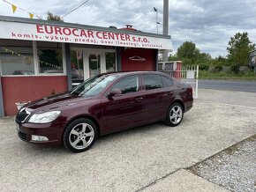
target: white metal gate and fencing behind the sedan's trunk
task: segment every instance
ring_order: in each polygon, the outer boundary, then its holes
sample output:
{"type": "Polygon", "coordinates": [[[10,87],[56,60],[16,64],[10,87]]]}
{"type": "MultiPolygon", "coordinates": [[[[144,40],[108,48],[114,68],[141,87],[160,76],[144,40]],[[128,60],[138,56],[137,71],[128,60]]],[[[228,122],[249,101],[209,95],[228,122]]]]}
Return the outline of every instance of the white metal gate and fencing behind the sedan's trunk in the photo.
{"type": "Polygon", "coordinates": [[[193,97],[198,98],[199,65],[182,65],[181,62],[160,62],[157,70],[178,81],[192,85],[193,97]]]}

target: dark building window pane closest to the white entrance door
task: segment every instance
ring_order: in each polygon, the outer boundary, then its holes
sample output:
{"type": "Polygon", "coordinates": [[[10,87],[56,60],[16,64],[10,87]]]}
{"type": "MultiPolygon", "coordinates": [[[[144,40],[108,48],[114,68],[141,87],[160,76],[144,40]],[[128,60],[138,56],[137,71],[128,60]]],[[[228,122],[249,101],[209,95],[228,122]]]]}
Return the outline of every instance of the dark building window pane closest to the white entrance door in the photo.
{"type": "Polygon", "coordinates": [[[39,73],[64,73],[62,44],[37,42],[39,73]]]}

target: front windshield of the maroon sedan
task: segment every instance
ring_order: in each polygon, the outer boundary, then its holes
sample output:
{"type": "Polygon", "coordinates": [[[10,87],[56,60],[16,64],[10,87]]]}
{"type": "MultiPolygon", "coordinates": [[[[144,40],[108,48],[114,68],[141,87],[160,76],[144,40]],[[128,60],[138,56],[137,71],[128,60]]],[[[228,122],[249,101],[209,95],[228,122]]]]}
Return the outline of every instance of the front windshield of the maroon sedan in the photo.
{"type": "Polygon", "coordinates": [[[93,97],[102,91],[109,83],[111,83],[117,76],[102,75],[94,78],[88,78],[83,83],[76,86],[71,94],[84,97],[93,97]]]}

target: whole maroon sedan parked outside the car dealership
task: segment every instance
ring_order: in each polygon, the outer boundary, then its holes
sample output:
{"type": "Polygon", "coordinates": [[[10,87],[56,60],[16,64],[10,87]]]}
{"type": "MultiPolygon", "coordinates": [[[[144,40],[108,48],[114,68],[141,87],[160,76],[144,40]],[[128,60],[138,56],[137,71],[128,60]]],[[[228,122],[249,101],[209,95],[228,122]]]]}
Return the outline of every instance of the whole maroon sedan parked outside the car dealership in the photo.
{"type": "Polygon", "coordinates": [[[86,151],[98,136],[151,122],[182,122],[192,87],[159,72],[117,72],[89,78],[72,92],[26,104],[16,116],[19,137],[86,151]]]}

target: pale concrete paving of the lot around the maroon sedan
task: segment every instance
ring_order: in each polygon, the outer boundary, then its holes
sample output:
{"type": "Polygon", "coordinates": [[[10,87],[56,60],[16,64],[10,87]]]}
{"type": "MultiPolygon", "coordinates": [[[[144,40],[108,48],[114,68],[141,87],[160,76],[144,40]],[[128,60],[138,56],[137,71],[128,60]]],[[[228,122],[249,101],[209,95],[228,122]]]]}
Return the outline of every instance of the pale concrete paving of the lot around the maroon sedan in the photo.
{"type": "Polygon", "coordinates": [[[0,119],[0,191],[225,191],[184,169],[256,134],[256,107],[243,106],[255,94],[232,92],[241,97],[236,106],[207,92],[175,128],[159,122],[125,130],[78,154],[27,144],[13,117],[0,119]]]}

